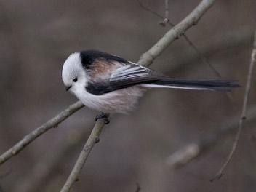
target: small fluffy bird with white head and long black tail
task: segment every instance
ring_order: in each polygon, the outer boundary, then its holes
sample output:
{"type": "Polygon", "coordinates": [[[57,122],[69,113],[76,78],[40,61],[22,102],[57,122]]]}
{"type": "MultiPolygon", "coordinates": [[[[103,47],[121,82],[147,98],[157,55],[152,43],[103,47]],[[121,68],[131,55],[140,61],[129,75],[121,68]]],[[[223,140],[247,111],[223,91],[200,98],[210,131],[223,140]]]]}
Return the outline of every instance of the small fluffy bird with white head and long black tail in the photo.
{"type": "MultiPolygon", "coordinates": [[[[89,108],[100,111],[99,118],[113,113],[129,113],[149,88],[231,91],[236,80],[176,79],[132,63],[122,57],[97,50],[74,52],[63,64],[65,90],[89,108]]],[[[108,123],[109,121],[106,121],[108,123]]]]}

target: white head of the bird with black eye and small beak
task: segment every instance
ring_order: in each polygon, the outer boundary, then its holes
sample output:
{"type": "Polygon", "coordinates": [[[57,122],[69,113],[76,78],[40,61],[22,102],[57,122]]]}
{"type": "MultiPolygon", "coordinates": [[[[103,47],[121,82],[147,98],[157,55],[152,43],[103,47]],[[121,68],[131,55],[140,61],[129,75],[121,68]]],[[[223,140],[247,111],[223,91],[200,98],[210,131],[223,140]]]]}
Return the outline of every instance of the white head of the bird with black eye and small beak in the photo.
{"type": "Polygon", "coordinates": [[[85,82],[85,71],[81,64],[81,57],[79,52],[71,54],[63,65],[62,71],[63,83],[65,89],[71,90],[76,94],[79,87],[84,86],[85,82]]]}

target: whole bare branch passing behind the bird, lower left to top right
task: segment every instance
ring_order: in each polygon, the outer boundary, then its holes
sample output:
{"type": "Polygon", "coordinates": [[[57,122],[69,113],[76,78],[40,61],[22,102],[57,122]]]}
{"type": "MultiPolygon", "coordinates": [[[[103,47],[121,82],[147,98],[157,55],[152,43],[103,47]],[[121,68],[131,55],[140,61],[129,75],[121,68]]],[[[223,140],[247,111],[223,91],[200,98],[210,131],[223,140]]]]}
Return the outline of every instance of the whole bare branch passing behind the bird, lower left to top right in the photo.
{"type": "MultiPolygon", "coordinates": [[[[204,15],[204,12],[212,7],[214,1],[215,0],[201,1],[201,3],[196,7],[196,9],[193,10],[193,12],[191,12],[190,15],[185,17],[185,19],[176,25],[175,28],[172,28],[170,31],[168,31],[163,38],[161,38],[150,50],[148,50],[148,52],[145,52],[142,57],[140,57],[138,63],[140,63],[140,65],[151,65],[153,60],[158,57],[161,52],[163,52],[164,49],[172,43],[172,41],[178,39],[180,35],[188,30],[188,28],[191,28],[191,26],[195,25],[199,21],[201,16],[204,15]]],[[[41,125],[41,127],[36,128],[33,130],[33,132],[23,137],[22,140],[20,140],[17,144],[12,146],[12,148],[0,156],[0,165],[4,164],[5,161],[22,151],[26,145],[33,142],[33,140],[42,135],[44,132],[47,132],[52,127],[57,127],[58,124],[67,119],[68,116],[71,116],[71,114],[75,113],[83,106],[84,105],[80,101],[74,103],[65,109],[65,111],[60,112],[57,116],[41,125]]]]}

